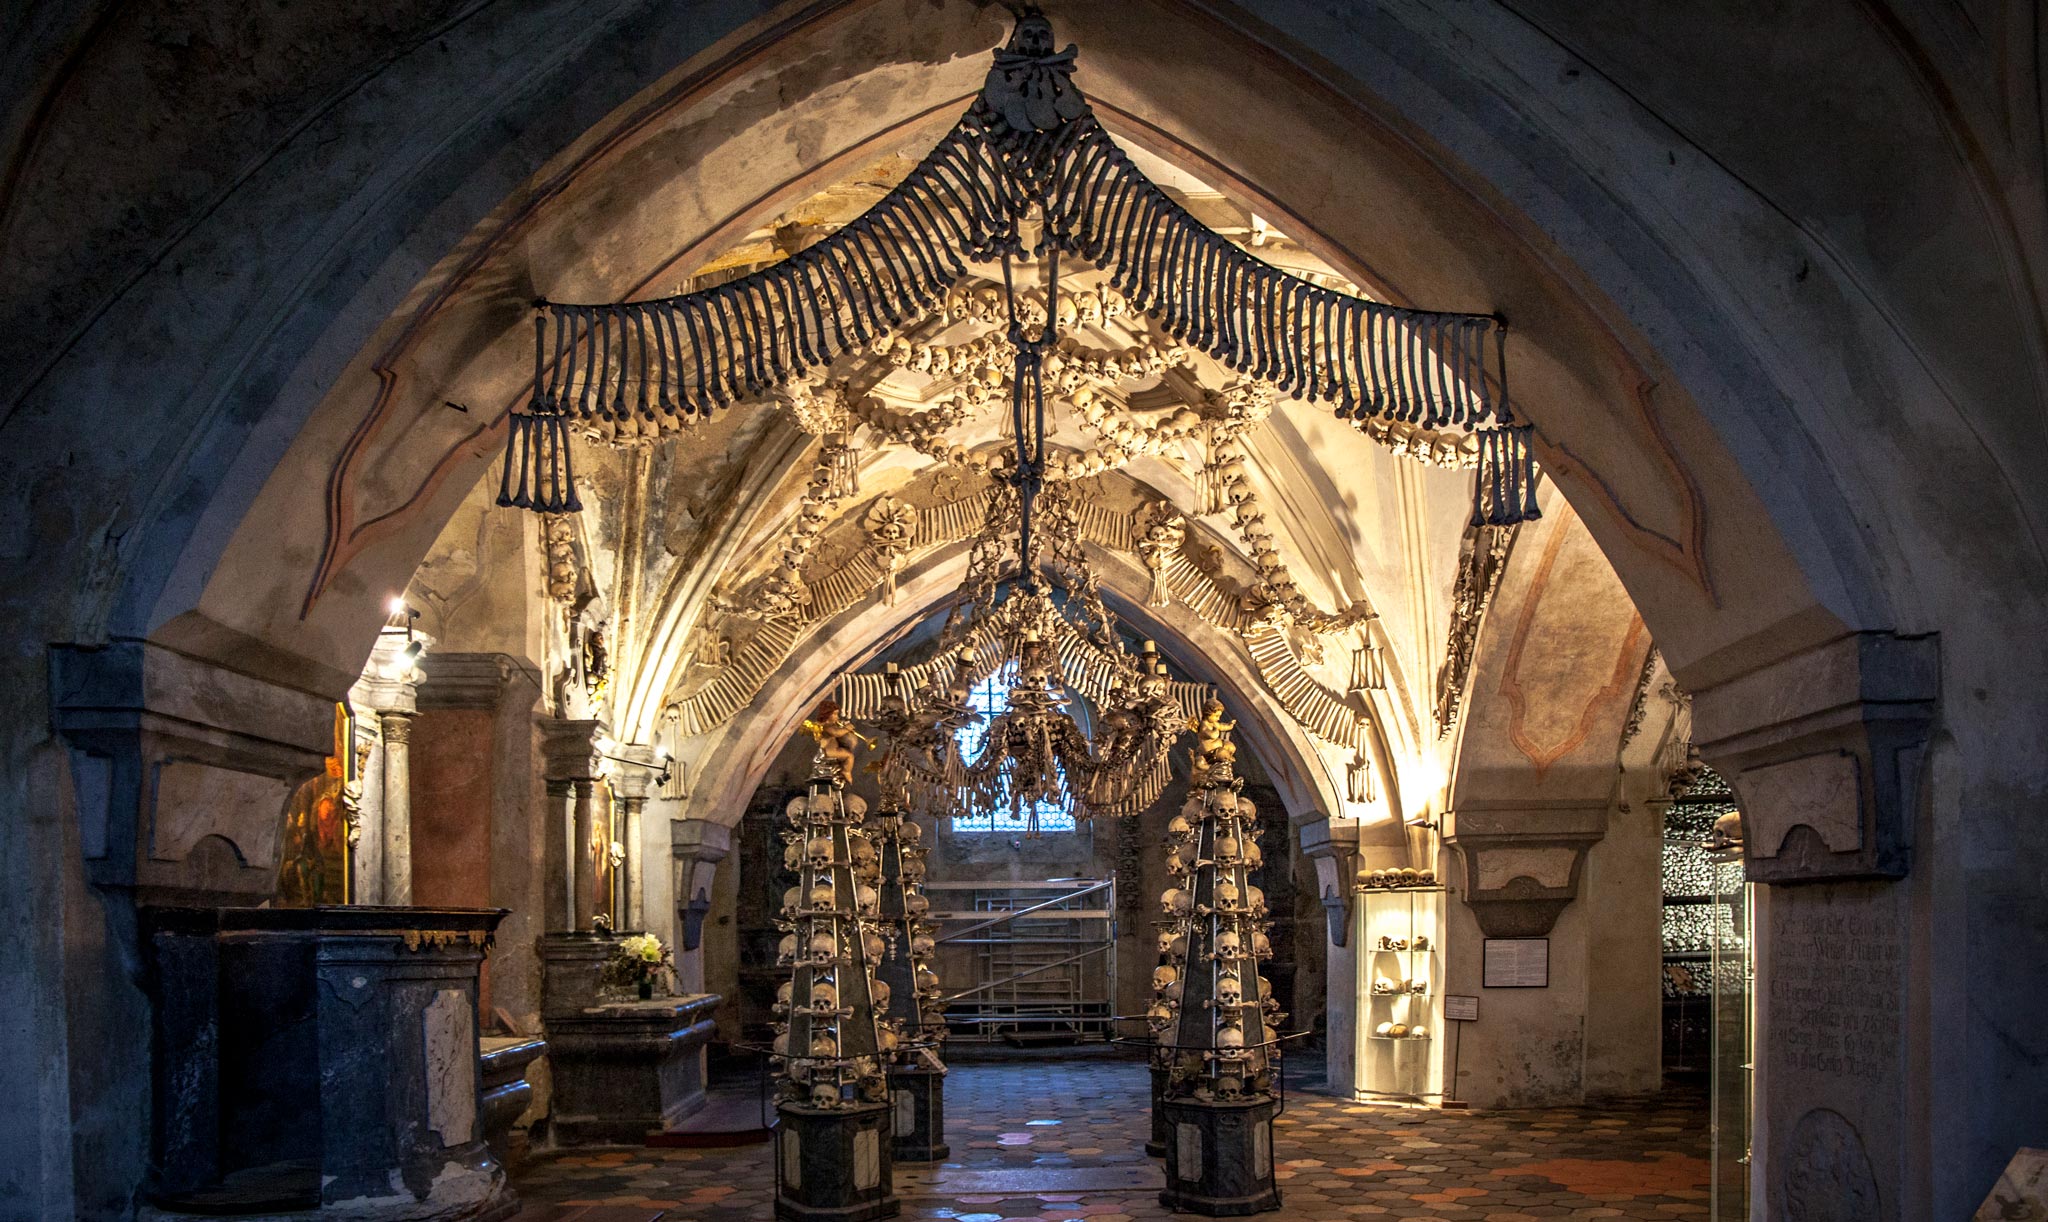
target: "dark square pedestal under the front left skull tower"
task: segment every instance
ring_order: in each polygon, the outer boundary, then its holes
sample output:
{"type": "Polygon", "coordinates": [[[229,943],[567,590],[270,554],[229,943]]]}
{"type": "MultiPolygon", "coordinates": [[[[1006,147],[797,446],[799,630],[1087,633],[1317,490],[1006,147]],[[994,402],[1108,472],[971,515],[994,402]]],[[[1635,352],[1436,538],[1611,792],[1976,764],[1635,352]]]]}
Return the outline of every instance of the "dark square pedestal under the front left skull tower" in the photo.
{"type": "Polygon", "coordinates": [[[889,1103],[778,1103],[774,1216],[788,1222],[895,1218],[889,1103]]]}

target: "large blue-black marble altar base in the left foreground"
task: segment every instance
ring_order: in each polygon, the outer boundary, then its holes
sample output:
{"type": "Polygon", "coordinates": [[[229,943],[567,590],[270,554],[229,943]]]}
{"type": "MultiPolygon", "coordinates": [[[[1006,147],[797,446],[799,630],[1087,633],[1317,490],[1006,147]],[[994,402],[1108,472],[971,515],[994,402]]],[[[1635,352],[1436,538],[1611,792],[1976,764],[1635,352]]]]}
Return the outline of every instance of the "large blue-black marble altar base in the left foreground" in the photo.
{"type": "Polygon", "coordinates": [[[477,968],[504,909],[150,909],[154,1218],[504,1218],[477,968]]]}

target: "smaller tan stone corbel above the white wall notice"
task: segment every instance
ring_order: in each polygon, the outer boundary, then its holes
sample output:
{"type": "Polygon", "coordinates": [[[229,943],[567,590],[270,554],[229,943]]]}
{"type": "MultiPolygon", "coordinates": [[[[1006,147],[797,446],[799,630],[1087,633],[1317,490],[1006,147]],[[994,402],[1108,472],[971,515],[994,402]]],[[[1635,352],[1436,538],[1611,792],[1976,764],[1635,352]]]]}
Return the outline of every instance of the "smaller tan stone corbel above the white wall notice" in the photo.
{"type": "Polygon", "coordinates": [[[1462,809],[1444,817],[1462,899],[1487,937],[1544,937],[1579,899],[1585,852],[1608,835],[1608,809],[1462,809]]]}

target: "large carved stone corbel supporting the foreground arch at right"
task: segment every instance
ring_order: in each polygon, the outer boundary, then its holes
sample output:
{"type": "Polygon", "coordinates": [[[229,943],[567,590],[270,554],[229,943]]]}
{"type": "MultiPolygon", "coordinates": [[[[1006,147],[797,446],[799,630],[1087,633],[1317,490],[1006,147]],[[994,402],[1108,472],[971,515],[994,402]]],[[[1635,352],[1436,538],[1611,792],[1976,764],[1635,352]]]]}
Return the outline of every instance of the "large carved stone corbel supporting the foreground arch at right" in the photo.
{"type": "Polygon", "coordinates": [[[1939,690],[1933,637],[1851,632],[1694,692],[1751,882],[1905,878],[1939,690]]]}

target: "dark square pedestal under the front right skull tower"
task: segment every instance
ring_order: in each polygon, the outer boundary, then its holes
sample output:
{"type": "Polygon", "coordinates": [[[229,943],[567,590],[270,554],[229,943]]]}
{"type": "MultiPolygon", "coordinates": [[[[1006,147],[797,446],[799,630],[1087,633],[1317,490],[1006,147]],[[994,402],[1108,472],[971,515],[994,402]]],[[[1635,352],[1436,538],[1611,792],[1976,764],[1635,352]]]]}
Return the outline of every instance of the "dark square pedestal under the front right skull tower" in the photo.
{"type": "Polygon", "coordinates": [[[1274,1183],[1270,1095],[1233,1103],[1167,1099],[1165,1191],[1159,1204],[1204,1218],[1241,1218],[1280,1208],[1274,1183]]]}

